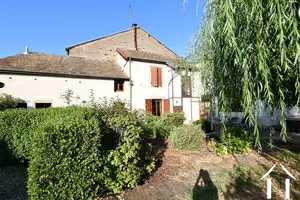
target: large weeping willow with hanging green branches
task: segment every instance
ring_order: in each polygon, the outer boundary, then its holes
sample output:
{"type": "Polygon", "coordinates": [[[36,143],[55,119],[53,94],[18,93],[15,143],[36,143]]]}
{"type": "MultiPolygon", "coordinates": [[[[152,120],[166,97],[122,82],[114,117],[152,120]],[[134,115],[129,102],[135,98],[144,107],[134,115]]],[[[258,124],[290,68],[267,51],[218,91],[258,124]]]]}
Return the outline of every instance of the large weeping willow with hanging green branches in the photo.
{"type": "Polygon", "coordinates": [[[204,86],[229,113],[239,101],[259,143],[261,102],[280,111],[300,103],[300,1],[207,0],[194,52],[204,86]]]}

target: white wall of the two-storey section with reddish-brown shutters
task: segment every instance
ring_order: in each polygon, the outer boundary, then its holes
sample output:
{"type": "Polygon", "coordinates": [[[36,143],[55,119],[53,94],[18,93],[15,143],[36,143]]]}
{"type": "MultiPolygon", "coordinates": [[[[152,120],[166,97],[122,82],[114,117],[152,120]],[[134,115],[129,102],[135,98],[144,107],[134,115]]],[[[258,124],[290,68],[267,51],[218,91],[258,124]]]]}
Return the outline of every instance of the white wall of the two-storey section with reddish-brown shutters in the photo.
{"type": "MultiPolygon", "coordinates": [[[[126,62],[120,55],[118,62],[129,76],[129,62],[126,62]]],[[[169,66],[131,61],[131,77],[133,81],[133,108],[145,109],[146,99],[169,99],[170,111],[173,111],[173,106],[182,106],[187,122],[199,119],[199,98],[182,98],[181,76],[169,66]],[[151,86],[151,67],[162,68],[162,87],[151,86]]]]}

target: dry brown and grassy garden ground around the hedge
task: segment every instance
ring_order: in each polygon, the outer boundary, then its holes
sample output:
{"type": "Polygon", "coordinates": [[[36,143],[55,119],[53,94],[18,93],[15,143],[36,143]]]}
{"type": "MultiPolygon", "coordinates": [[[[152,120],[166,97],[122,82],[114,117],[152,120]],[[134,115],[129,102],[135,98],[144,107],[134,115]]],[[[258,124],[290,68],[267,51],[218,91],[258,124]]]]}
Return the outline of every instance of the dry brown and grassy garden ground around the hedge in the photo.
{"type": "MultiPolygon", "coordinates": [[[[278,144],[281,147],[282,144],[278,144]]],[[[266,199],[266,181],[261,176],[277,161],[282,162],[299,180],[300,158],[293,153],[299,146],[288,144],[291,151],[275,148],[258,154],[218,156],[206,148],[200,152],[179,151],[159,141],[157,171],[144,184],[109,199],[266,199]],[[295,148],[293,148],[295,147],[295,148]]],[[[6,167],[0,172],[1,199],[27,199],[26,168],[6,167]]],[[[284,172],[277,167],[273,178],[273,199],[284,199],[284,172]]],[[[300,196],[300,183],[291,180],[291,197],[300,196]]]]}

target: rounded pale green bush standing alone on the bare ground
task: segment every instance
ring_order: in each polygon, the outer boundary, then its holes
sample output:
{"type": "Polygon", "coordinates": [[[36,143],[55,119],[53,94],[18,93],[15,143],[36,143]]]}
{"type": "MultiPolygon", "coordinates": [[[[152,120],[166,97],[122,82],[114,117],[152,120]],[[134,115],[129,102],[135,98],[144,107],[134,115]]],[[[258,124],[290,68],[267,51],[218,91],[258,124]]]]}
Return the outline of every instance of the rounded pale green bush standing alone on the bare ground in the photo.
{"type": "Polygon", "coordinates": [[[184,124],[176,127],[170,135],[171,146],[181,150],[200,150],[205,134],[194,124],[184,124]]]}

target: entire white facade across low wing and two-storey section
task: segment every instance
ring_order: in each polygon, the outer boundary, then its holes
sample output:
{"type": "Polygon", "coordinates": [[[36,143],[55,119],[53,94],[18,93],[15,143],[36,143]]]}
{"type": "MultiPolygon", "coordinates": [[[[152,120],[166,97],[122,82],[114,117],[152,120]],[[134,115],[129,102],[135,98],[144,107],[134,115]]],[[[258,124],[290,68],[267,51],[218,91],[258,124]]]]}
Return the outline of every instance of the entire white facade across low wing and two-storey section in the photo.
{"type": "MultiPolygon", "coordinates": [[[[146,61],[126,61],[118,56],[119,65],[133,81],[132,108],[145,109],[146,99],[169,99],[170,111],[173,106],[182,106],[187,122],[199,119],[199,98],[182,97],[181,76],[166,64],[146,61]],[[151,86],[151,66],[162,69],[162,87],[151,86]],[[173,78],[172,78],[173,77],[173,78]]],[[[123,92],[114,92],[113,79],[70,78],[42,75],[0,74],[5,84],[1,93],[10,94],[20,102],[26,102],[28,108],[35,108],[36,103],[50,103],[52,107],[66,106],[61,95],[68,89],[74,92],[71,104],[85,104],[90,101],[90,90],[95,99],[121,98],[130,101],[130,84],[124,82],[123,92]]],[[[163,111],[162,111],[163,112],[163,111]]]]}

